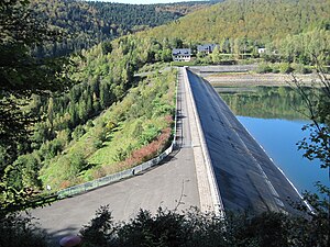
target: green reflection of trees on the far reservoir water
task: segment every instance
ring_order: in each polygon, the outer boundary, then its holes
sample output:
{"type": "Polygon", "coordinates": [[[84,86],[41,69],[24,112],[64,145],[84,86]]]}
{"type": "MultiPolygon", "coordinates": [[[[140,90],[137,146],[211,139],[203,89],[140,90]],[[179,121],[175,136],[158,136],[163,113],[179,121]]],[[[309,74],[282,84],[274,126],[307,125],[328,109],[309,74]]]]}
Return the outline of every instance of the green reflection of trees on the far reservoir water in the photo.
{"type": "Polygon", "coordinates": [[[289,87],[256,87],[256,90],[221,92],[221,98],[237,115],[261,119],[304,119],[300,96],[289,87]]]}

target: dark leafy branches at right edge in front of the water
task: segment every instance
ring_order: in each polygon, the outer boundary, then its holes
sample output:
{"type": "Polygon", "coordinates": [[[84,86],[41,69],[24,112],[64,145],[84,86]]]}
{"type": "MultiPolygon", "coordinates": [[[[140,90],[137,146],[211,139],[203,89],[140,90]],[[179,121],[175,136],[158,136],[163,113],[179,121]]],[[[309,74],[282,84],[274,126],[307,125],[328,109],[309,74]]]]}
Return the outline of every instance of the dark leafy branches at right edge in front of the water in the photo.
{"type": "MultiPolygon", "coordinates": [[[[293,83],[296,86],[299,92],[305,108],[308,110],[308,119],[311,120],[310,124],[302,127],[302,131],[308,130],[309,136],[298,142],[298,149],[305,151],[304,157],[309,160],[319,160],[320,168],[328,169],[330,179],[330,83],[328,75],[324,72],[322,66],[319,63],[319,57],[315,56],[316,64],[318,65],[318,81],[314,81],[312,93],[307,93],[306,89],[301,86],[301,81],[297,77],[293,76],[293,83]]],[[[323,226],[316,233],[315,238],[318,238],[318,234],[327,237],[322,238],[321,245],[330,244],[329,237],[329,214],[330,214],[330,189],[329,187],[316,183],[319,194],[305,193],[305,199],[310,202],[312,209],[316,211],[311,217],[314,220],[314,227],[323,226]],[[320,198],[320,197],[324,198],[320,198]]]]}

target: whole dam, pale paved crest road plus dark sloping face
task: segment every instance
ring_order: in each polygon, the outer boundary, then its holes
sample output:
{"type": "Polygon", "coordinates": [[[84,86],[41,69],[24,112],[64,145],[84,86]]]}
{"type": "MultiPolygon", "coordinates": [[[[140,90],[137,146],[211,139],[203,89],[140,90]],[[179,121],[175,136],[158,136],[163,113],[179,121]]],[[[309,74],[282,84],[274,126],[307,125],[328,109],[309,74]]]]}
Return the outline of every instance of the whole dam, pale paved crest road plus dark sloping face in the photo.
{"type": "MultiPolygon", "coordinates": [[[[215,213],[295,213],[301,201],[285,175],[240,124],[211,85],[179,68],[176,148],[160,165],[130,178],[31,211],[50,242],[78,234],[101,205],[114,221],[140,209],[178,212],[190,206],[215,213]]],[[[219,214],[218,214],[219,215],[219,214]]]]}

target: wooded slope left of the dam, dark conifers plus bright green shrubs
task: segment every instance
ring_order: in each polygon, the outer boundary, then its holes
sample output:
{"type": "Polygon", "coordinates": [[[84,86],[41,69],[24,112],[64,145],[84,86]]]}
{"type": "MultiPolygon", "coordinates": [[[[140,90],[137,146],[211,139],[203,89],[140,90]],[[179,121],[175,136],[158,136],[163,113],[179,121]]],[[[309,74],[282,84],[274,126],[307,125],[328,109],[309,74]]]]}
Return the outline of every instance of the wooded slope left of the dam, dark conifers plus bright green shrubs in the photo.
{"type": "Polygon", "coordinates": [[[102,43],[76,58],[79,69],[70,78],[81,82],[67,93],[32,94],[25,111],[38,120],[29,141],[18,144],[12,165],[2,164],[8,186],[37,192],[48,184],[56,191],[162,151],[172,135],[175,72],[145,80],[134,72],[147,63],[168,59],[163,55],[168,47],[133,36],[102,43]],[[141,149],[144,146],[148,151],[141,149]]]}

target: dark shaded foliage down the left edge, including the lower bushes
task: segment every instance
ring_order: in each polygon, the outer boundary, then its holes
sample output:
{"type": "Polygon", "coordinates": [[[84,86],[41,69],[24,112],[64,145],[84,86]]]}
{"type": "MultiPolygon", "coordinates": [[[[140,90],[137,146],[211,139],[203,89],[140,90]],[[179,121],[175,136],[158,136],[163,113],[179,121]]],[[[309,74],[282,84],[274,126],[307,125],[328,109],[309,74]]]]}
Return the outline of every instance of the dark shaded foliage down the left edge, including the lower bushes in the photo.
{"type": "Polygon", "coordinates": [[[31,128],[42,116],[28,106],[33,94],[62,93],[74,83],[68,78],[74,69],[70,58],[32,55],[32,48],[59,41],[63,34],[35,19],[28,3],[25,0],[0,3],[1,211],[24,204],[31,197],[28,187],[33,190],[40,183],[35,173],[40,166],[37,157],[28,155],[13,164],[18,155],[29,149],[31,128]],[[21,176],[24,179],[21,180],[21,176]]]}

